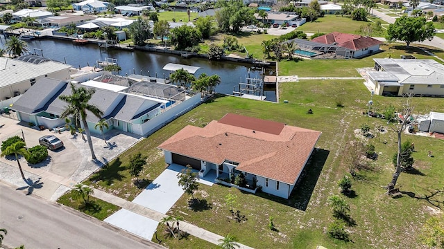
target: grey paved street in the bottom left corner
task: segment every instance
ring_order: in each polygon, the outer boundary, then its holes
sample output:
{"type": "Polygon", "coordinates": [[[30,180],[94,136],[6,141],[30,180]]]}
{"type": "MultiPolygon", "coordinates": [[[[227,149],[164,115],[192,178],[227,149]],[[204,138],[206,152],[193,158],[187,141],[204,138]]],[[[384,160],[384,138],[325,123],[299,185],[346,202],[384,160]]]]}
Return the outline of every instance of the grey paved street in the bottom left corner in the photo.
{"type": "Polygon", "coordinates": [[[12,248],[163,248],[2,184],[0,200],[3,244],[12,248]]]}

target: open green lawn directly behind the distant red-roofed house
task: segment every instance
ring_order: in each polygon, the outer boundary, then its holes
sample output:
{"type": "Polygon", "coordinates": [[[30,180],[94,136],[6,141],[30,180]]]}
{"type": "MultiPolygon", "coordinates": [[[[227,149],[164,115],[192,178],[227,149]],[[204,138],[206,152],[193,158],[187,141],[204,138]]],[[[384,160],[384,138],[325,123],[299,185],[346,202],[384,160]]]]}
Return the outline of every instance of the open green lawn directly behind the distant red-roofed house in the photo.
{"type": "Polygon", "coordinates": [[[341,33],[356,33],[361,25],[366,24],[366,21],[354,21],[349,17],[341,17],[341,15],[325,15],[313,22],[307,22],[297,28],[306,33],[332,33],[334,31],[341,33]]]}

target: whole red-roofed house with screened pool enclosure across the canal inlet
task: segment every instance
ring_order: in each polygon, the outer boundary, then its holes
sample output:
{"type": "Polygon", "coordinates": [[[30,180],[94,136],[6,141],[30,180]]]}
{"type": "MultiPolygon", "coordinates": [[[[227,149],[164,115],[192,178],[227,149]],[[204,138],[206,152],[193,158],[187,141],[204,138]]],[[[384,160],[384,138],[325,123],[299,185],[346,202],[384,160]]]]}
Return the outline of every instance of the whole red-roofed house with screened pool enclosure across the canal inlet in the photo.
{"type": "Polygon", "coordinates": [[[363,37],[361,35],[345,34],[333,32],[327,35],[321,35],[311,40],[321,44],[336,45],[341,48],[348,48],[350,55],[346,57],[357,58],[371,55],[379,50],[379,46],[383,42],[372,37],[363,37]]]}

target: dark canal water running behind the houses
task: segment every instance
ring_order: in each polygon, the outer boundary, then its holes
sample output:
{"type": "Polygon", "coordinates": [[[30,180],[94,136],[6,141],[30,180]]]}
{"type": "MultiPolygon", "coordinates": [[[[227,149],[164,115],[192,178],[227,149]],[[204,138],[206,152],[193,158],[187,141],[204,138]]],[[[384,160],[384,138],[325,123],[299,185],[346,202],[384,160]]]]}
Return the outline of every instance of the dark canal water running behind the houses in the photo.
{"type": "MultiPolygon", "coordinates": [[[[2,37],[0,44],[6,40],[2,37]]],[[[168,63],[185,64],[189,66],[198,66],[200,69],[195,76],[198,77],[201,73],[207,75],[219,75],[221,77],[221,84],[216,87],[216,92],[232,94],[233,91],[239,91],[239,82],[246,82],[248,70],[250,70],[250,77],[260,78],[262,68],[255,68],[250,64],[241,64],[236,62],[214,62],[203,58],[189,58],[185,59],[178,55],[170,55],[165,53],[153,53],[145,51],[128,51],[117,50],[113,48],[99,49],[96,44],[87,44],[85,46],[74,46],[71,42],[42,39],[26,41],[31,53],[34,51],[37,54],[43,54],[44,57],[66,62],[74,67],[93,66],[97,61],[103,61],[106,58],[117,59],[117,64],[122,68],[120,75],[128,75],[136,73],[142,75],[149,75],[155,77],[168,77],[170,71],[164,71],[162,68],[168,63]],[[34,50],[37,48],[37,50],[34,50]]],[[[275,68],[267,69],[266,75],[275,75],[275,68]]],[[[268,101],[276,101],[275,89],[265,89],[264,95],[268,101]]]]}

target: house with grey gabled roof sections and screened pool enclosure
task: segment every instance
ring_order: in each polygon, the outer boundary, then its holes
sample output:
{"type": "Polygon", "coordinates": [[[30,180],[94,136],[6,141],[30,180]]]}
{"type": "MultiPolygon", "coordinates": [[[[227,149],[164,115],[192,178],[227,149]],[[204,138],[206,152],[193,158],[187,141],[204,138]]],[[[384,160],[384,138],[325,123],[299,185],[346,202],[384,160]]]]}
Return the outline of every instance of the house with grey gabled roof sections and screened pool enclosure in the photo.
{"type": "MultiPolygon", "coordinates": [[[[134,82],[131,86],[129,84],[125,86],[120,84],[128,83],[126,77],[106,74],[97,77],[96,80],[87,80],[87,77],[81,78],[86,81],[68,82],[42,78],[28,89],[10,109],[16,111],[17,118],[21,121],[43,125],[50,129],[61,127],[65,125],[65,119],[60,118],[60,115],[65,110],[67,103],[58,97],[70,95],[70,84],[74,84],[76,87],[83,86],[95,90],[89,104],[94,104],[103,111],[101,118],[108,122],[109,129],[119,129],[144,136],[200,102],[199,94],[189,97],[183,89],[169,84],[134,82]],[[114,77],[118,79],[114,79],[114,77]],[[106,83],[114,80],[119,81],[119,84],[106,83]],[[153,91],[150,92],[146,88],[153,91]]],[[[87,111],[87,125],[92,133],[101,133],[99,129],[94,128],[99,120],[87,111]]]]}

